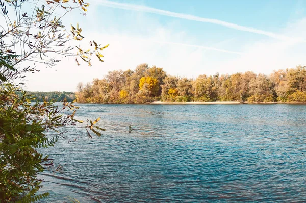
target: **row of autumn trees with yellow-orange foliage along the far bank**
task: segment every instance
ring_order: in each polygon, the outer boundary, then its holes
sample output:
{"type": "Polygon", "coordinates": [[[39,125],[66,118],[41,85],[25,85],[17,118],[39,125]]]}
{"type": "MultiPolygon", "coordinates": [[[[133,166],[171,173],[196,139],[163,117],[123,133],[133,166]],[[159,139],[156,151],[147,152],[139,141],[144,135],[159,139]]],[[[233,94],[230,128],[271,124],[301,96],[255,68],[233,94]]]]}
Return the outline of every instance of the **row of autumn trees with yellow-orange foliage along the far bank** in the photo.
{"type": "Polygon", "coordinates": [[[270,75],[247,71],[189,79],[144,63],[135,70],[109,71],[103,79],[78,83],[76,98],[79,103],[306,102],[305,67],[274,70],[270,75]]]}

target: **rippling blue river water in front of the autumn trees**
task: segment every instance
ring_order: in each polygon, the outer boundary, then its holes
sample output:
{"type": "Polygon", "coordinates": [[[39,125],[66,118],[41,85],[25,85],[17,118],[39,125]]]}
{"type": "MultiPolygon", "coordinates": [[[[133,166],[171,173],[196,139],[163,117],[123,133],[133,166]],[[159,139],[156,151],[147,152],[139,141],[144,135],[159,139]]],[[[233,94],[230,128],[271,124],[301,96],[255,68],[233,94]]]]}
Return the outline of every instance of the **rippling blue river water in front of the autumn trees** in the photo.
{"type": "Polygon", "coordinates": [[[306,201],[306,105],[79,106],[107,131],[45,150],[63,165],[41,175],[49,201],[306,201]]]}

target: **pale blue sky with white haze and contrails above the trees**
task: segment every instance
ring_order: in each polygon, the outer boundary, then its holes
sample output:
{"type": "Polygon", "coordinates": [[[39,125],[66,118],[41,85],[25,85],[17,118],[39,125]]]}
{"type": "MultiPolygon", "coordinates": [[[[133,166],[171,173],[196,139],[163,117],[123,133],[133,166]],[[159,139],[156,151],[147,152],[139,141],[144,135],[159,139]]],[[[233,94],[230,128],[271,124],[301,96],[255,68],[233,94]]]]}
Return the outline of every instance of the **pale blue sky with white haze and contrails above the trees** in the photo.
{"type": "Polygon", "coordinates": [[[84,45],[102,45],[104,62],[77,66],[62,58],[55,67],[29,74],[29,91],[76,91],[78,82],[102,79],[108,71],[138,64],[162,67],[168,74],[232,74],[306,65],[306,1],[90,0],[79,22],[84,45]]]}

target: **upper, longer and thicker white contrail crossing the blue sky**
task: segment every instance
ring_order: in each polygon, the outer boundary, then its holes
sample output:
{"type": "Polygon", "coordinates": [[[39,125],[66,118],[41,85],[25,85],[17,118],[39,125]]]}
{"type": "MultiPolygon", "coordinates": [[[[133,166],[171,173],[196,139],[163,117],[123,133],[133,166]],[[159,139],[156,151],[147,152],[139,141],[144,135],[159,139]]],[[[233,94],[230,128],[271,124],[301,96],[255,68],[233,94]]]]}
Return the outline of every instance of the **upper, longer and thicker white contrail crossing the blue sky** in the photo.
{"type": "Polygon", "coordinates": [[[226,21],[222,21],[222,20],[218,20],[218,19],[202,18],[202,17],[198,17],[198,16],[195,16],[195,15],[189,15],[189,14],[184,14],[184,13],[175,13],[175,12],[156,9],[156,8],[147,7],[147,6],[141,6],[141,5],[136,5],[136,4],[118,3],[118,2],[108,1],[108,0],[99,0],[97,2],[101,5],[103,5],[103,6],[112,7],[112,8],[133,10],[133,11],[142,11],[142,12],[154,13],[154,14],[165,15],[165,16],[170,16],[170,17],[175,17],[175,18],[182,18],[182,19],[199,21],[199,22],[209,22],[209,23],[213,23],[213,24],[219,24],[220,26],[232,28],[232,29],[235,29],[235,30],[241,30],[241,31],[246,31],[246,32],[250,32],[250,33],[257,33],[257,34],[261,34],[261,35],[266,35],[266,36],[272,37],[274,39],[279,39],[279,40],[284,40],[284,41],[306,42],[304,39],[295,39],[295,38],[287,37],[287,36],[284,36],[284,35],[279,35],[279,34],[276,34],[276,33],[268,32],[268,31],[263,31],[263,30],[259,30],[259,29],[255,29],[255,28],[240,26],[239,24],[226,22],[226,21]]]}

